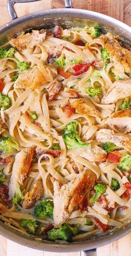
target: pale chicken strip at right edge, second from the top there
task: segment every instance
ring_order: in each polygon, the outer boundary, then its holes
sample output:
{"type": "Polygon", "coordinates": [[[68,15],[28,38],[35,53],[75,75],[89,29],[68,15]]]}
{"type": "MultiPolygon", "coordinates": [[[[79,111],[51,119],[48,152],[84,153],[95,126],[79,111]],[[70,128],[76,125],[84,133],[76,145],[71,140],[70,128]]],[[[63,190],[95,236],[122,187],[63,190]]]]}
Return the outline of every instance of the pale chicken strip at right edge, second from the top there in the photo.
{"type": "Polygon", "coordinates": [[[131,95],[131,79],[118,80],[107,91],[102,98],[102,104],[115,103],[119,99],[124,99],[131,95]]]}

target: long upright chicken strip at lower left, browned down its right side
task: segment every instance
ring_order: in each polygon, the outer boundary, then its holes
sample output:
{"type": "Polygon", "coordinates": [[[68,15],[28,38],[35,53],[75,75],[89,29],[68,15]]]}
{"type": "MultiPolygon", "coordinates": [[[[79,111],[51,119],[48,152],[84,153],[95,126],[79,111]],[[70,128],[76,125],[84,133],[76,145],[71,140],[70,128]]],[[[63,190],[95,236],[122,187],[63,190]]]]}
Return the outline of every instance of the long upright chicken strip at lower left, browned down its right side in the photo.
{"type": "Polygon", "coordinates": [[[12,168],[12,175],[9,182],[9,197],[12,198],[16,193],[16,188],[23,184],[27,178],[33,158],[33,147],[27,147],[16,154],[12,168]]]}

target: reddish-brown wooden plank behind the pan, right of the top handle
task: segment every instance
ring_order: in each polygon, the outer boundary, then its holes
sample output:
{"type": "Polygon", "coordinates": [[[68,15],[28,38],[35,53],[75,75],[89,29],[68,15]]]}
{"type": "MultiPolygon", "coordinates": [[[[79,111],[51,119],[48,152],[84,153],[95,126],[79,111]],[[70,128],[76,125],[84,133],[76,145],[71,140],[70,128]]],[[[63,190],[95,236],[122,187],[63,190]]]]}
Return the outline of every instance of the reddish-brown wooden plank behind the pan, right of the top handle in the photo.
{"type": "MultiPolygon", "coordinates": [[[[107,14],[123,21],[124,0],[73,0],[73,8],[88,9],[90,11],[107,14]]],[[[64,1],[52,0],[52,8],[64,7],[64,1]]]]}

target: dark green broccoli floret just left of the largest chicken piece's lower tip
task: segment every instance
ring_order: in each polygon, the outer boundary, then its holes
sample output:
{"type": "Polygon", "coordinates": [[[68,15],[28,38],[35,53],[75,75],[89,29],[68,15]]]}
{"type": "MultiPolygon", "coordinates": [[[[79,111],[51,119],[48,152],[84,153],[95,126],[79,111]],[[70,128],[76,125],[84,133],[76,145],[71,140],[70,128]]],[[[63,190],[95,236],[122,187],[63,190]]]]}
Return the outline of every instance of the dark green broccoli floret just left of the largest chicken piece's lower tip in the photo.
{"type": "Polygon", "coordinates": [[[34,208],[34,216],[41,219],[53,219],[53,201],[45,198],[34,208]]]}

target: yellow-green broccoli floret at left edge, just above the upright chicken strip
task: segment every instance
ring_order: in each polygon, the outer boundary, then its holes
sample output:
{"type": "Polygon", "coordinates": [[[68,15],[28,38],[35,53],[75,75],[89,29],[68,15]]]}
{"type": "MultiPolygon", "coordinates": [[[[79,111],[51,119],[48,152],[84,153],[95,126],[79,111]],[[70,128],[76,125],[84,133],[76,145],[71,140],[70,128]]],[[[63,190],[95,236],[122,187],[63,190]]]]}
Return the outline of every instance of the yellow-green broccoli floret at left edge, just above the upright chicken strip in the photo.
{"type": "Polygon", "coordinates": [[[15,149],[19,150],[17,142],[11,137],[1,137],[0,149],[3,153],[12,153],[15,149]]]}

